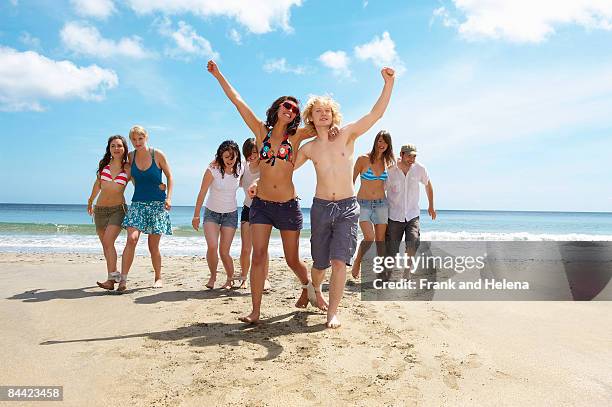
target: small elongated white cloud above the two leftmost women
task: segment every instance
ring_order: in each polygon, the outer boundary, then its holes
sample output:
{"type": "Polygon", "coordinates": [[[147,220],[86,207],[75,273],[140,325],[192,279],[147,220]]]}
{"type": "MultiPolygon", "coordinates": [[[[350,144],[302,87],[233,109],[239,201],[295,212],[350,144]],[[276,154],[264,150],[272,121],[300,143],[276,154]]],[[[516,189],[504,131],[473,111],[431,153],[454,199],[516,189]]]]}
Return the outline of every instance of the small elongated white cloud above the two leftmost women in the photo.
{"type": "Polygon", "coordinates": [[[103,38],[96,27],[85,23],[67,23],[62,28],[60,37],[68,49],[84,55],[100,58],[121,56],[137,59],[153,56],[152,53],[142,47],[140,37],[121,38],[119,41],[109,40],[103,38]]]}

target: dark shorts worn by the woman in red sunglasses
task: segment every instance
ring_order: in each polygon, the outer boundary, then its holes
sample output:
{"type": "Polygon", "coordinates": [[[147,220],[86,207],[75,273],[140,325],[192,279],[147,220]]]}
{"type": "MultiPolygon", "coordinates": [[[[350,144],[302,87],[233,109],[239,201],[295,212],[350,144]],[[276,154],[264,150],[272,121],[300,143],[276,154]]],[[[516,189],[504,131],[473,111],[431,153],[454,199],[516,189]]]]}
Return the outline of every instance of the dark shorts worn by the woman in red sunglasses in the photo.
{"type": "Polygon", "coordinates": [[[278,230],[301,230],[303,216],[297,198],[273,202],[255,197],[249,209],[249,222],[272,225],[278,230]]]}

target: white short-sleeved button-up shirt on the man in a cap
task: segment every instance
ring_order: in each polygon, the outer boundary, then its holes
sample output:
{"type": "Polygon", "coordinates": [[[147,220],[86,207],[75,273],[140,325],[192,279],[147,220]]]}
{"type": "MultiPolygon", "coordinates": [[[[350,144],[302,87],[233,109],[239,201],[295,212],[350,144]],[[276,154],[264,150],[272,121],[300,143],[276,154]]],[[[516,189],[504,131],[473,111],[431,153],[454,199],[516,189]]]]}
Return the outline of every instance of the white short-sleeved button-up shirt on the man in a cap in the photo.
{"type": "Polygon", "coordinates": [[[397,165],[389,168],[387,172],[389,177],[385,190],[389,202],[389,219],[407,222],[419,216],[419,182],[423,185],[429,183],[425,167],[415,162],[406,175],[397,165]]]}

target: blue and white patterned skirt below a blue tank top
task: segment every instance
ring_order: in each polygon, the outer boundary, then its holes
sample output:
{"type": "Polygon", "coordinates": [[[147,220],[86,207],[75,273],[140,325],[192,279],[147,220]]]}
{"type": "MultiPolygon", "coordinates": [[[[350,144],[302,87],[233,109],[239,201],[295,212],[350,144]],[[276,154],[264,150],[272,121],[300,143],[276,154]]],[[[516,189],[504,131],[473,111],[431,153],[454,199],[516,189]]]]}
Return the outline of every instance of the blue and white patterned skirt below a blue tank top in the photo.
{"type": "Polygon", "coordinates": [[[170,214],[162,201],[132,202],[122,226],[136,228],[148,235],[172,234],[170,214]]]}

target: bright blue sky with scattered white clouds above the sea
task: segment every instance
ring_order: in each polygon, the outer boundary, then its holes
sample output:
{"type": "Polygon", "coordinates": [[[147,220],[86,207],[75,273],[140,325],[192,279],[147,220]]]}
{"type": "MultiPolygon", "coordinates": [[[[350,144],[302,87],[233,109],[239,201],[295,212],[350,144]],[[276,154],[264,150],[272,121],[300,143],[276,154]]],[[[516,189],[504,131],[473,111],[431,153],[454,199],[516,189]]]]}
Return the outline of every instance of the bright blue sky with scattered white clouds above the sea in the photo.
{"type": "MultiPolygon", "coordinates": [[[[213,58],[260,118],[329,94],[345,123],[394,67],[355,151],[381,129],[415,144],[437,209],[610,212],[611,51],[601,0],[0,0],[0,202],[86,203],[107,138],[139,124],[194,205],[216,147],[252,136],[213,58]]],[[[312,164],[293,179],[310,206],[312,164]]]]}

